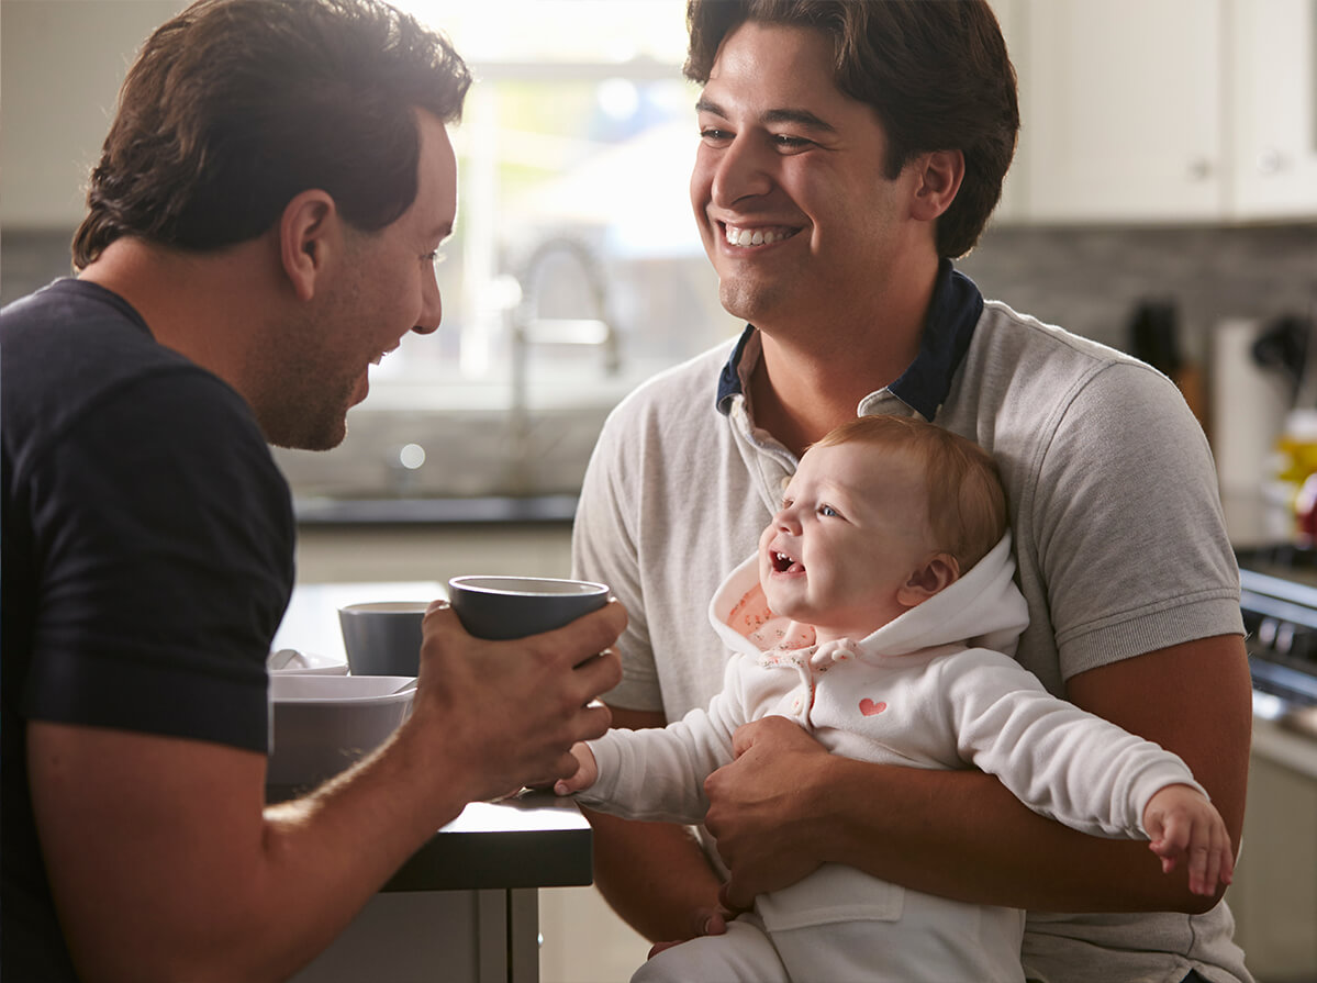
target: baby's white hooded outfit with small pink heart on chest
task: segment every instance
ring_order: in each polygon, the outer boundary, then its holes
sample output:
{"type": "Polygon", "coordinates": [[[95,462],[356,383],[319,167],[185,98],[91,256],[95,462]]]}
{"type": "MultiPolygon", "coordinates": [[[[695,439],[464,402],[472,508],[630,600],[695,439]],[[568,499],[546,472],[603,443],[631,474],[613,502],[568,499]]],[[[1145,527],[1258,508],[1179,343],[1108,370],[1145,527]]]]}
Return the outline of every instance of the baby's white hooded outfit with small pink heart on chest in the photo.
{"type": "MultiPolygon", "coordinates": [[[[848,758],[980,768],[1035,812],[1094,835],[1146,839],[1142,816],[1156,791],[1204,791],[1180,758],[1058,700],[1005,654],[1029,619],[1009,534],[948,588],[856,640],[814,644],[811,627],[769,610],[757,572],[752,556],[710,604],[732,650],[722,692],[664,729],[590,742],[599,777],[582,804],[699,824],[705,777],[732,760],[736,729],[768,714],[848,758]]],[[[1023,925],[1019,909],[934,897],[827,863],[761,895],[727,936],[669,949],[633,980],[1019,982],[1023,925]]]]}

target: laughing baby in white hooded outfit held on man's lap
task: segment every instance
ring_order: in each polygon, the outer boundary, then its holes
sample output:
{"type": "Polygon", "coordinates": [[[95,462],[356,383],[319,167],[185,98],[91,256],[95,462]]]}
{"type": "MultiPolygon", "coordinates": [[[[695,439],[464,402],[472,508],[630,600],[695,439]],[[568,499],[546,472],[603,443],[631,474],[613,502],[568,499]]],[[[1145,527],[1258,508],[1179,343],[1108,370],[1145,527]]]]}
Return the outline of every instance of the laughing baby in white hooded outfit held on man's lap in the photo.
{"type": "MultiPolygon", "coordinates": [[[[835,754],[977,767],[1093,835],[1151,839],[1191,888],[1229,883],[1225,822],[1176,755],[1048,694],[1004,652],[1027,609],[992,457],[940,427],[863,416],[801,459],[759,552],[710,605],[734,651],[707,710],[573,748],[560,795],[636,820],[698,824],[705,777],[752,719],[794,719],[835,754]]],[[[823,864],[761,895],[727,934],[666,949],[656,980],[1023,980],[1025,914],[823,864]]]]}

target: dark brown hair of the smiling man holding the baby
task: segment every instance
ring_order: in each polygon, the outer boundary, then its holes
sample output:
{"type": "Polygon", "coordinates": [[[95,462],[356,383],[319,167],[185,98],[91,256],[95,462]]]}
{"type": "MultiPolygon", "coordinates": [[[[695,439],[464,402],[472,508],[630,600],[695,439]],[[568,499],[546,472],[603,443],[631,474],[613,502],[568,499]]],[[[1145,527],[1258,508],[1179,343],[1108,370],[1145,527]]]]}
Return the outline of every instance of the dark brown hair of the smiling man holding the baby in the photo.
{"type": "Polygon", "coordinates": [[[919,153],[961,150],[965,177],[938,219],[938,254],[973,249],[1019,132],[1015,70],[986,0],[690,0],[686,78],[707,83],[723,40],[745,21],[831,36],[838,88],[882,123],[888,178],[919,153]]]}

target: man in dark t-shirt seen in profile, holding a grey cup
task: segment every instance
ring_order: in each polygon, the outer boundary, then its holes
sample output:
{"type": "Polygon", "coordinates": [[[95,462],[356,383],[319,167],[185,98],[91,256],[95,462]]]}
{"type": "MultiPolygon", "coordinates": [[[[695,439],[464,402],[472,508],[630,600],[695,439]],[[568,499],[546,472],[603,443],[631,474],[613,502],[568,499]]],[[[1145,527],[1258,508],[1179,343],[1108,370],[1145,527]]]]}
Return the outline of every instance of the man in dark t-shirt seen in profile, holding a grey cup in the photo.
{"type": "Polygon", "coordinates": [[[0,311],[0,978],[286,979],[466,802],[607,729],[620,605],[518,642],[433,605],[408,719],[265,805],[267,444],[337,444],[439,327],[469,82],[377,0],[200,0],[129,70],[79,275],[0,311]]]}

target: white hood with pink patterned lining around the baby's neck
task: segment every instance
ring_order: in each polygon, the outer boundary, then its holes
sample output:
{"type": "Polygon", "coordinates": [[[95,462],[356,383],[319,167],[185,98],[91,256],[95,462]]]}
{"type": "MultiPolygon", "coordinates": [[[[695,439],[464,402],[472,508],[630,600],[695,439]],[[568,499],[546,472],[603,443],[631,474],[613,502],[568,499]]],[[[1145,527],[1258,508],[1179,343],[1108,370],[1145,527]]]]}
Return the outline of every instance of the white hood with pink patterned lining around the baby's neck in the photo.
{"type": "MultiPolygon", "coordinates": [[[[863,656],[907,655],[923,648],[965,643],[1011,655],[1029,625],[1029,607],[1011,577],[1015,560],[1010,532],[951,586],[894,618],[865,639],[863,656]]],[[[709,619],[730,648],[757,654],[814,644],[814,630],[774,614],[759,585],[759,557],[732,571],[714,593],[709,619]]]]}

